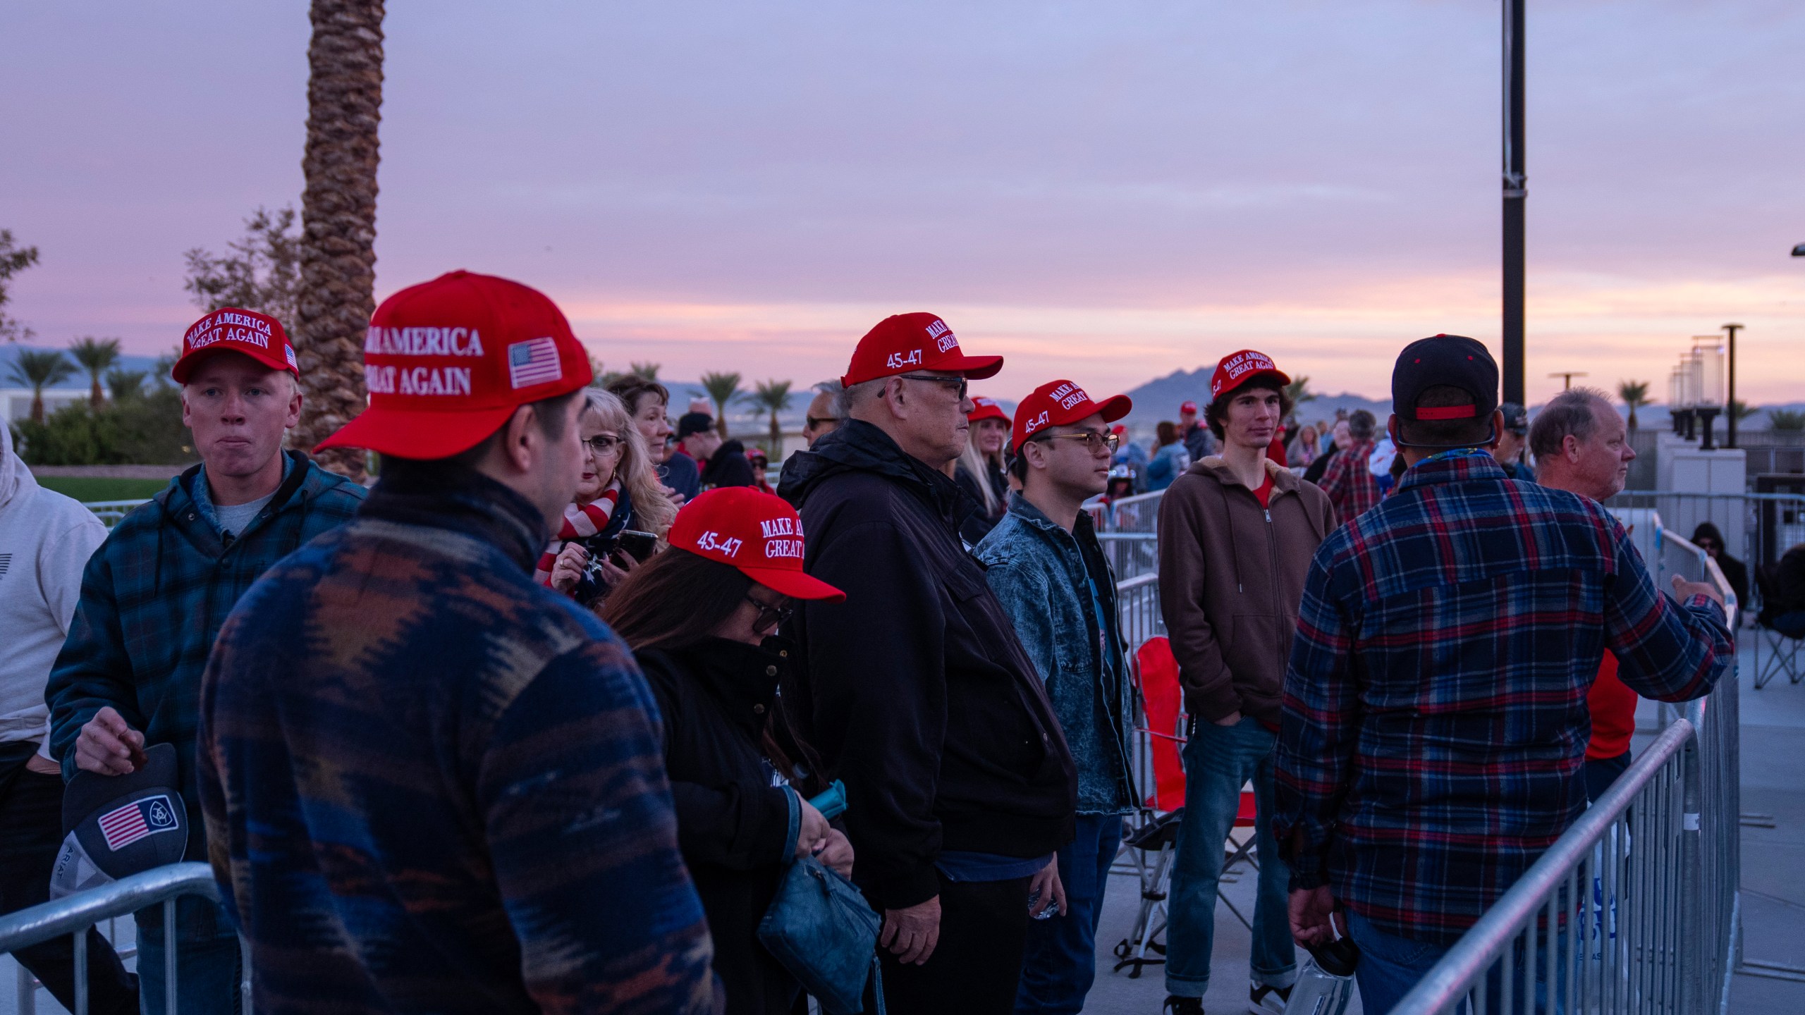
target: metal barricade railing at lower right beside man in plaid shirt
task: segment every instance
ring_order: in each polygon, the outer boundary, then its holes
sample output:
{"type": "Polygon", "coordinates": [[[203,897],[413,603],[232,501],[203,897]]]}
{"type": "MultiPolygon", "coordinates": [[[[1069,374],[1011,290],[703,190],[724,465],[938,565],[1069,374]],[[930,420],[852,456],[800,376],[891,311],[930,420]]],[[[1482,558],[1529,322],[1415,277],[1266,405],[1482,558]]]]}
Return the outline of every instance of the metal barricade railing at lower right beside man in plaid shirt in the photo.
{"type": "MultiPolygon", "coordinates": [[[[1655,578],[1722,571],[1671,529],[1655,578]]],[[[1393,1008],[1484,1011],[1727,1011],[1742,954],[1740,740],[1735,668],[1704,699],[1662,706],[1643,757],[1393,1008]],[[1552,1004],[1550,1004],[1552,1001],[1552,1004]]]]}

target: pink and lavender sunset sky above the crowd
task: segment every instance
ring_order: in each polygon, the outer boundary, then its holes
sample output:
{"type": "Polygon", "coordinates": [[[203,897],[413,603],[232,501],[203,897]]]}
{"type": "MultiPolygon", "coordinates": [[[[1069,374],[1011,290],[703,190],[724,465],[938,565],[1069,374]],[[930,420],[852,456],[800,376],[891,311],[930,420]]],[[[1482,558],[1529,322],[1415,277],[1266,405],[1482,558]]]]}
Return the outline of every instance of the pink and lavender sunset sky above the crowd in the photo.
{"type": "MultiPolygon", "coordinates": [[[[935,311],[989,386],[1126,388],[1240,347],[1386,394],[1496,349],[1496,0],[403,4],[377,298],[469,267],[610,367],[839,374],[935,311]]],[[[40,343],[171,347],[182,251],[300,202],[307,4],[11,4],[0,228],[40,343]]],[[[1655,381],[1749,325],[1805,397],[1805,5],[1531,0],[1529,390],[1655,381]]],[[[1020,390],[1016,390],[1020,388],[1020,390]]]]}

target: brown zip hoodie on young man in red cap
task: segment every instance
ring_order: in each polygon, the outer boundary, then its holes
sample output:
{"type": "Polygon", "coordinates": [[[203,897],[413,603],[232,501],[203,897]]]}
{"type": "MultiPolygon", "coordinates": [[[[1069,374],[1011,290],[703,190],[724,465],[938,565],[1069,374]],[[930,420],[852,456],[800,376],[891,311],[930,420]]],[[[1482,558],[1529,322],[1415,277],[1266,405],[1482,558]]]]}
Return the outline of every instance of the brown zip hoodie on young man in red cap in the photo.
{"type": "Polygon", "coordinates": [[[1278,724],[1303,578],[1336,527],[1314,482],[1271,459],[1265,470],[1267,508],[1220,455],[1191,466],[1159,504],[1159,605],[1184,708],[1208,722],[1240,712],[1278,724]]]}

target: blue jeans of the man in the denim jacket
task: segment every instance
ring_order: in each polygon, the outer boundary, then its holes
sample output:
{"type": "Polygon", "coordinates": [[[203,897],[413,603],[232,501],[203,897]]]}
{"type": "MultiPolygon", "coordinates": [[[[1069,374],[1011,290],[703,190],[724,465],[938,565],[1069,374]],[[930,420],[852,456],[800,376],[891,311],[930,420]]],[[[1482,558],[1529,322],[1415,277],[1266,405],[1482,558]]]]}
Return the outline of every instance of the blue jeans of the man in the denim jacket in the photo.
{"type": "Polygon", "coordinates": [[[1027,928],[1016,1011],[1078,1015],[1097,979],[1097,921],[1110,863],[1123,842],[1121,815],[1078,815],[1078,836],[1060,849],[1065,912],[1027,928]]]}

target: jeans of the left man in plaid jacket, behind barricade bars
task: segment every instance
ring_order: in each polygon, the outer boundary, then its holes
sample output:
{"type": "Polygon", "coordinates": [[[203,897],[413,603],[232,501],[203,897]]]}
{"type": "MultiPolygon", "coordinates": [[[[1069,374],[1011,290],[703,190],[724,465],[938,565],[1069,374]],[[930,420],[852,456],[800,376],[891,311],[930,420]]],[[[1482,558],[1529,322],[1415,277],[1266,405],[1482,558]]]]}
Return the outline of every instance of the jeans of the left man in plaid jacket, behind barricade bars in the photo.
{"type": "MultiPolygon", "coordinates": [[[[137,997],[144,1015],[166,1015],[162,905],[137,910],[137,997]]],[[[195,896],[175,903],[175,1006],[182,1015],[233,1015],[238,1004],[238,932],[226,907],[195,896]]]]}

